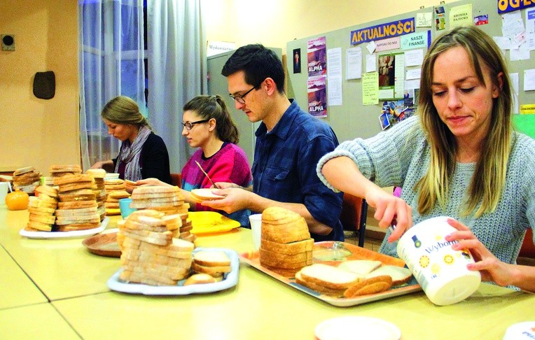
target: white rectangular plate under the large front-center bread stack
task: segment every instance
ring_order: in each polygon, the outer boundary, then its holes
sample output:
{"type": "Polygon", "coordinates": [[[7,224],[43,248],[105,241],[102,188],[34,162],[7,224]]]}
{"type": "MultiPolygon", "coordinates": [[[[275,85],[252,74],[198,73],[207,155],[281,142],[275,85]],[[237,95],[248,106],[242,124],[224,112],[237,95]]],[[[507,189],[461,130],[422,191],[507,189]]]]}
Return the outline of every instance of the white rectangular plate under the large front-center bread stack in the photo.
{"type": "Polygon", "coordinates": [[[111,290],[117,292],[125,292],[130,294],[143,294],[143,295],[189,295],[200,294],[208,292],[217,292],[219,290],[225,290],[233,287],[238,282],[239,273],[239,256],[234,250],[226,248],[196,248],[193,253],[200,250],[207,251],[223,251],[230,258],[230,273],[225,275],[223,281],[216,283],[204,283],[201,285],[182,285],[183,281],[179,281],[178,285],[143,285],[141,283],[125,283],[119,280],[120,272],[123,269],[119,269],[116,274],[113,274],[109,278],[107,285],[111,290]]]}

